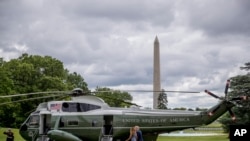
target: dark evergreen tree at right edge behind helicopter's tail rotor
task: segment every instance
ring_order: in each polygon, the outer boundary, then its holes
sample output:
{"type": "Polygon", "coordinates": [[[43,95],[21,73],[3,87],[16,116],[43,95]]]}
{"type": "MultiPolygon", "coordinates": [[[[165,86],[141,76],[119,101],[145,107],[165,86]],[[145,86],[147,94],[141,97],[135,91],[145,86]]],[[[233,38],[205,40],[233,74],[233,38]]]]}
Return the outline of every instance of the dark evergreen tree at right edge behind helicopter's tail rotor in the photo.
{"type": "MultiPolygon", "coordinates": [[[[249,71],[250,63],[246,63],[244,67],[240,67],[242,70],[249,71]]],[[[231,92],[228,93],[229,97],[239,97],[239,96],[248,96],[250,97],[250,73],[246,75],[238,75],[232,77],[230,89],[231,92]]],[[[223,128],[226,132],[229,131],[229,125],[231,124],[243,124],[250,125],[250,102],[242,101],[239,103],[239,106],[232,108],[233,113],[236,116],[236,121],[232,121],[230,115],[227,113],[219,121],[222,123],[223,128]]]]}

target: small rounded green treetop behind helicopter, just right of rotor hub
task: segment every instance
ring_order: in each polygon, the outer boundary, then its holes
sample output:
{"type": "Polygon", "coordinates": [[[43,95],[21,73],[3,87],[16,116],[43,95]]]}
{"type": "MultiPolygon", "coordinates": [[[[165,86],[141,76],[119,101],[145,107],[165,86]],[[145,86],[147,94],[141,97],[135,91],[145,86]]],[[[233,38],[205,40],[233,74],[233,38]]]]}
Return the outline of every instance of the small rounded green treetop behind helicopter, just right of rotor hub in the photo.
{"type": "Polygon", "coordinates": [[[132,96],[128,92],[112,90],[110,88],[96,88],[98,97],[101,97],[111,107],[127,107],[130,106],[132,96]]]}

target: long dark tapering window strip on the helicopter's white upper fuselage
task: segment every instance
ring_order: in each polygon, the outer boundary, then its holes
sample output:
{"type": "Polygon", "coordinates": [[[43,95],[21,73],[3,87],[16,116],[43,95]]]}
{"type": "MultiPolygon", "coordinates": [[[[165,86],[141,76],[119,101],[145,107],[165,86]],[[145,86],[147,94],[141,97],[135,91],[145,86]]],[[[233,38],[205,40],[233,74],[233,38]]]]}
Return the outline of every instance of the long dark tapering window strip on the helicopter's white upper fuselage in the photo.
{"type": "Polygon", "coordinates": [[[87,104],[87,103],[68,103],[65,102],[62,104],[63,112],[87,112],[91,110],[100,109],[101,106],[87,104]]]}

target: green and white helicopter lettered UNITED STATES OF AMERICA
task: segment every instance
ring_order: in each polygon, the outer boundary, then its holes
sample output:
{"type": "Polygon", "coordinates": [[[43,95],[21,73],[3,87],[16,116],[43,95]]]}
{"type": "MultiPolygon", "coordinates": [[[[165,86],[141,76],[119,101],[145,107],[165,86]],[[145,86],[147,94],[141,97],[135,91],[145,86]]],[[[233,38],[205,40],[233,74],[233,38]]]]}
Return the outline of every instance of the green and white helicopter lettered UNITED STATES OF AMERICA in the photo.
{"type": "Polygon", "coordinates": [[[248,97],[228,98],[205,92],[219,103],[206,111],[175,111],[110,107],[101,98],[84,94],[76,88],[70,101],[40,103],[20,127],[26,141],[124,141],[132,126],[140,126],[145,141],[155,141],[158,134],[210,124],[248,97]]]}

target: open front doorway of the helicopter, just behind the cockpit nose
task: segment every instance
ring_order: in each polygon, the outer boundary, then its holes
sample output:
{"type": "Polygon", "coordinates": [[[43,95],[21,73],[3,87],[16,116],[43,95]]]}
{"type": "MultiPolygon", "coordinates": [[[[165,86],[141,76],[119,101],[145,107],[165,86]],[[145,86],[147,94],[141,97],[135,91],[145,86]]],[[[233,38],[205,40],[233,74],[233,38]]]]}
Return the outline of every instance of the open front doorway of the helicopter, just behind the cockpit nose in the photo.
{"type": "Polygon", "coordinates": [[[48,111],[40,112],[39,134],[45,135],[51,128],[51,113],[48,111]]]}

